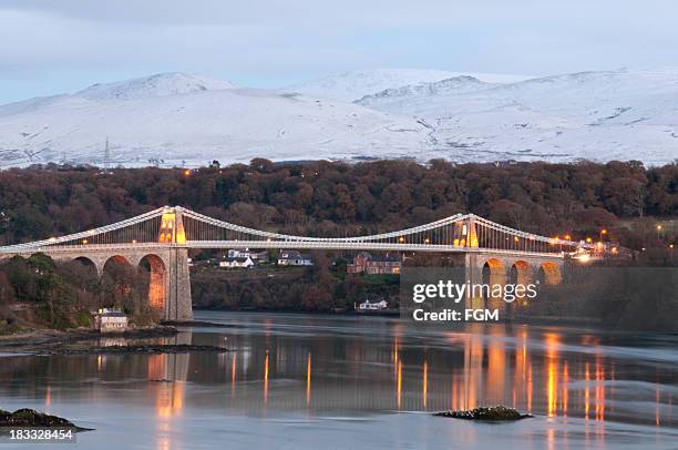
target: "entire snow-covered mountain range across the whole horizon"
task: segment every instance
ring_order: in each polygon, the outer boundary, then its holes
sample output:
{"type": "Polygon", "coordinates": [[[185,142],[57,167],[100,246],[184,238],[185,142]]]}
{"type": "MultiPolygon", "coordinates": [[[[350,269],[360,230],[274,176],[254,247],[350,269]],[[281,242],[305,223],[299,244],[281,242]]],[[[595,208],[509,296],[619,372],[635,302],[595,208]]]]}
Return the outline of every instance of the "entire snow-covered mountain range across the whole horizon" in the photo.
{"type": "Polygon", "coordinates": [[[95,84],[0,106],[0,166],[101,164],[106,139],[124,165],[678,158],[678,70],[479,76],[376,70],[260,90],[171,73],[95,84]]]}

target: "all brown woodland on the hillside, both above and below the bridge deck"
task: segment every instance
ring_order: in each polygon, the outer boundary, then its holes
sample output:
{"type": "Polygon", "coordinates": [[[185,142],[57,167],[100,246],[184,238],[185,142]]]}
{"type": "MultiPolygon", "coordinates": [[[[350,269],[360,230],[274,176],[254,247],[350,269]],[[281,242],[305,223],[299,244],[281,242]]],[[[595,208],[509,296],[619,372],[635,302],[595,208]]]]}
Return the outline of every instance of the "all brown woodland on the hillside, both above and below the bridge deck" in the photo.
{"type": "MultiPolygon", "coordinates": [[[[197,170],[11,168],[0,171],[0,245],[74,233],[163,205],[311,236],[393,231],[471,212],[523,231],[569,234],[575,239],[598,236],[606,228],[607,239],[631,250],[629,264],[675,266],[677,262],[669,245],[678,231],[671,222],[678,219],[678,165],[647,168],[639,162],[454,165],[435,160],[421,165],[259,158],[226,167],[214,162],[197,170]]],[[[333,256],[317,254],[316,267],[276,282],[233,283],[215,273],[195,274],[194,301],[203,307],[331,310],[350,307],[366,295],[397,290],[389,280],[346,278],[332,265],[333,256]]],[[[96,282],[78,270],[40,258],[3,262],[0,317],[13,320],[8,305],[43,301],[42,323],[74,326],[79,320],[64,318],[73,315],[54,310],[61,304],[68,311],[79,309],[69,306],[70,300],[88,306],[114,301],[138,317],[147,316],[143,305],[147,274],[119,268],[96,282]],[[115,277],[126,279],[123,292],[115,290],[120,286],[115,277]]]]}

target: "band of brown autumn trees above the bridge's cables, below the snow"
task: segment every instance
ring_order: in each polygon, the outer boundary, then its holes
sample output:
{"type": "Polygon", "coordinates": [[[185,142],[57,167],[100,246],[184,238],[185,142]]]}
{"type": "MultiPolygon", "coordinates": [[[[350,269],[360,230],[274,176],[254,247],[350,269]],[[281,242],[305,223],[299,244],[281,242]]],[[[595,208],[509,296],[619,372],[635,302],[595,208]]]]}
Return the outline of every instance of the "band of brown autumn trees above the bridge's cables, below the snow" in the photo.
{"type": "MultiPolygon", "coordinates": [[[[193,171],[12,168],[0,172],[0,243],[73,233],[162,205],[316,236],[399,229],[471,212],[532,233],[583,237],[600,227],[614,228],[624,218],[675,215],[678,165],[454,165],[441,160],[427,165],[276,164],[259,158],[193,171]]],[[[616,232],[629,247],[640,249],[653,241],[653,229],[641,228],[643,235],[628,227],[616,232]]]]}

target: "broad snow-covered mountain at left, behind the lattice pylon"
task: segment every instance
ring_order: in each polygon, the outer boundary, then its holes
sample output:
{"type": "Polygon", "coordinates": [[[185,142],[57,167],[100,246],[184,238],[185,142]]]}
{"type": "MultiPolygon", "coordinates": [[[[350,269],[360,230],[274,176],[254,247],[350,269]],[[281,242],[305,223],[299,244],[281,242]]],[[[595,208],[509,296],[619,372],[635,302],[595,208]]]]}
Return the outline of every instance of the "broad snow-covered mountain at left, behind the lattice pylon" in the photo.
{"type": "Polygon", "coordinates": [[[162,74],[0,106],[0,164],[135,165],[399,156],[429,145],[414,119],[357,104],[162,74]]]}

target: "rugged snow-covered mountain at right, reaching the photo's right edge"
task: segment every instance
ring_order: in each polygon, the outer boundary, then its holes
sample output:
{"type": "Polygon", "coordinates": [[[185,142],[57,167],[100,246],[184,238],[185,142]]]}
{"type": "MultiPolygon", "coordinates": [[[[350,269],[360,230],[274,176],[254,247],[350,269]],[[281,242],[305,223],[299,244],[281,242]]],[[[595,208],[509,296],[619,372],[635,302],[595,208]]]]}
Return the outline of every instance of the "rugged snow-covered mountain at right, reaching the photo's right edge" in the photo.
{"type": "Polygon", "coordinates": [[[582,72],[516,83],[454,78],[357,102],[408,114],[456,161],[678,158],[678,71],[582,72]]]}

